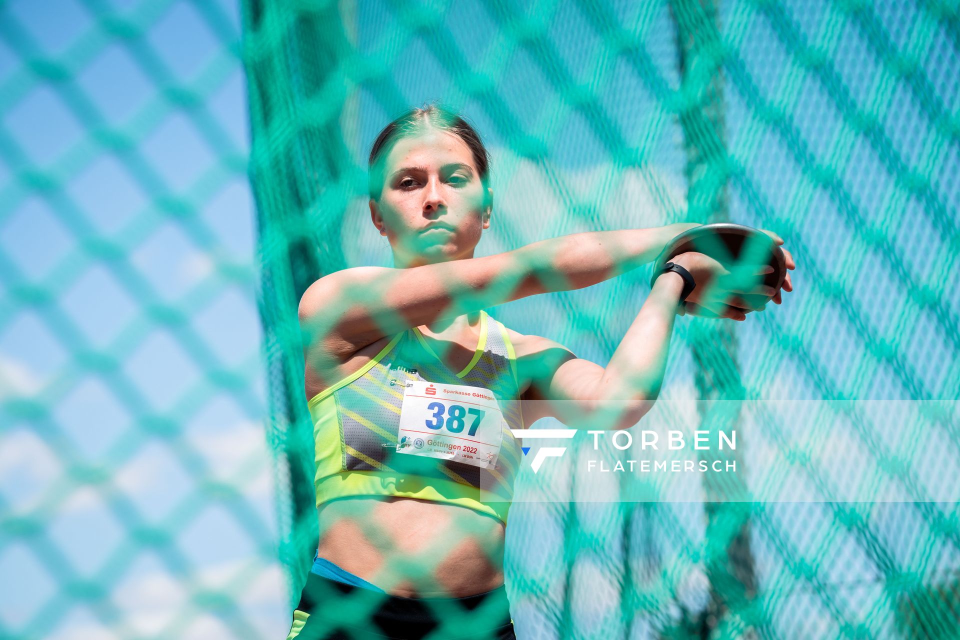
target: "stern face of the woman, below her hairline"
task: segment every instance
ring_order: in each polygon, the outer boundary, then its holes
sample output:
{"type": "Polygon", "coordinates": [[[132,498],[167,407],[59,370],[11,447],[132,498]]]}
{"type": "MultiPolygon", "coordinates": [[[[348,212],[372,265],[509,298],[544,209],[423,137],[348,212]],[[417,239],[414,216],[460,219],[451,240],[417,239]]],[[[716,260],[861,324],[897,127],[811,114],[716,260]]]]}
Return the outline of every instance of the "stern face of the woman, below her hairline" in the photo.
{"type": "Polygon", "coordinates": [[[471,257],[490,227],[492,190],[460,136],[425,130],[399,140],[387,155],[373,224],[387,236],[398,264],[416,266],[471,257]]]}

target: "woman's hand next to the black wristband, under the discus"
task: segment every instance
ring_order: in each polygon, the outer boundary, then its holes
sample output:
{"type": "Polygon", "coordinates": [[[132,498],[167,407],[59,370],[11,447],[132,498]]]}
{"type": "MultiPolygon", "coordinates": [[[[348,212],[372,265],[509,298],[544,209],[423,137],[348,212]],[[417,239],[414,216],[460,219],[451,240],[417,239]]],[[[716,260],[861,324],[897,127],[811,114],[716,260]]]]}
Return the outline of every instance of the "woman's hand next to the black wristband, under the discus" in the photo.
{"type": "MultiPolygon", "coordinates": [[[[763,275],[774,268],[766,264],[735,265],[730,268],[698,251],[687,251],[670,259],[693,276],[696,287],[686,298],[685,313],[708,318],[746,320],[752,306],[742,294],[773,296],[773,287],[763,284],[763,275]]],[[[792,258],[791,258],[792,262],[792,258]]],[[[683,307],[681,307],[683,309],[683,307]]]]}

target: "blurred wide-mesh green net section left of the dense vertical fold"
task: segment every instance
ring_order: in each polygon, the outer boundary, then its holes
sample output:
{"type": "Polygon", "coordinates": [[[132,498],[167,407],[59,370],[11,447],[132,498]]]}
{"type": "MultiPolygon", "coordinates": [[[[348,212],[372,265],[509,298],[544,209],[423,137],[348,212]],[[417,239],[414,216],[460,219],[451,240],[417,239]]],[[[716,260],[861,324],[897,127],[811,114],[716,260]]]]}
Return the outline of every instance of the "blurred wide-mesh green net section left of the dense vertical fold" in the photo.
{"type": "Polygon", "coordinates": [[[239,18],[0,2],[0,637],[286,632],[239,18]]]}

